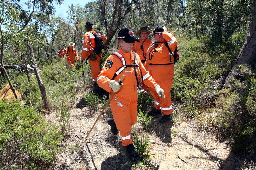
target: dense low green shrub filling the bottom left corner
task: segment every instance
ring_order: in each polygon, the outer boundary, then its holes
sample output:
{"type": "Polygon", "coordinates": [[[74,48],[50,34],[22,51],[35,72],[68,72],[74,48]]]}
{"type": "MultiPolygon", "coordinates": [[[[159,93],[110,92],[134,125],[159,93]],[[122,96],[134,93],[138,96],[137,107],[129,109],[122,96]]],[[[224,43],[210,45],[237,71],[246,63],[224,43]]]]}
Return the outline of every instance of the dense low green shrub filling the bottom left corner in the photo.
{"type": "Polygon", "coordinates": [[[0,100],[0,167],[46,168],[59,152],[61,133],[30,106],[0,100]]]}

